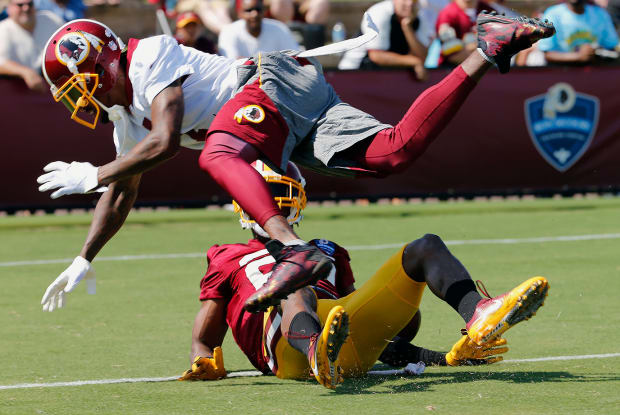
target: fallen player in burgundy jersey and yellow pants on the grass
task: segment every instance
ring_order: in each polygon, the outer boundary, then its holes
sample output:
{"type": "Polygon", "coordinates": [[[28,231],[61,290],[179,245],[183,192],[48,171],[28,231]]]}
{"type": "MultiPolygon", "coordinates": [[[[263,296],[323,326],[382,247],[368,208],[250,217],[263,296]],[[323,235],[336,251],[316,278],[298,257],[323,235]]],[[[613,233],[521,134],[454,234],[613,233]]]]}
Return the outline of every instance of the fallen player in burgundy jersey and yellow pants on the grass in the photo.
{"type": "MultiPolygon", "coordinates": [[[[269,183],[288,222],[298,223],[306,197],[297,168],[289,162],[288,176],[283,176],[260,161],[253,166],[269,183]]],[[[463,265],[435,235],[404,246],[355,290],[347,251],[315,239],[310,243],[331,260],[327,278],[296,290],[279,307],[248,313],[244,304],[268,283],[275,259],[266,249],[266,232],[238,205],[237,210],[254,239],[209,249],[207,272],[200,283],[202,306],[192,331],[193,363],[181,380],[226,376],[221,344],[228,328],[261,372],[303,378],[311,370],[328,388],[336,387],[342,376],[365,374],[377,359],[400,367],[420,361],[452,366],[494,363],[508,350],[501,334],[531,317],[547,293],[547,281],[535,277],[483,300],[463,265]],[[418,307],[427,285],[466,323],[467,334],[448,353],[411,344],[420,326],[418,307]]]]}

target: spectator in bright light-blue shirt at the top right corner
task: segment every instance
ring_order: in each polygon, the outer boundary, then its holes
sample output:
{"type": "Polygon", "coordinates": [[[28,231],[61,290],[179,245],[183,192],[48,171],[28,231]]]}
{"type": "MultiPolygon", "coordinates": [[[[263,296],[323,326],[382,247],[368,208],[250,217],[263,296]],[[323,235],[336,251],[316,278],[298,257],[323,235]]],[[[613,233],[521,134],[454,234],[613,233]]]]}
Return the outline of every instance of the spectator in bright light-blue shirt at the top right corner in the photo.
{"type": "Polygon", "coordinates": [[[549,7],[543,18],[555,26],[555,36],[539,42],[547,62],[589,63],[617,57],[618,33],[607,11],[586,0],[566,0],[549,7]],[[611,55],[611,56],[610,56],[611,55]]]}

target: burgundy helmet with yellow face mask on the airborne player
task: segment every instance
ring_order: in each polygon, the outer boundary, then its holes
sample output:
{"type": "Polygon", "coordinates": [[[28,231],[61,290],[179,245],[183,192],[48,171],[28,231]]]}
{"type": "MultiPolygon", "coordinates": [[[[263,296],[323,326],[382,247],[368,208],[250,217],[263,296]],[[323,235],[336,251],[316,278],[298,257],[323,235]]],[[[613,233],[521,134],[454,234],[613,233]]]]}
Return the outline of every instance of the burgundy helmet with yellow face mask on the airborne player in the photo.
{"type": "Polygon", "coordinates": [[[66,23],[48,40],[43,76],[54,100],[69,109],[72,120],[95,128],[103,106],[95,96],[116,83],[124,48],[109,27],[88,19],[66,23]]]}

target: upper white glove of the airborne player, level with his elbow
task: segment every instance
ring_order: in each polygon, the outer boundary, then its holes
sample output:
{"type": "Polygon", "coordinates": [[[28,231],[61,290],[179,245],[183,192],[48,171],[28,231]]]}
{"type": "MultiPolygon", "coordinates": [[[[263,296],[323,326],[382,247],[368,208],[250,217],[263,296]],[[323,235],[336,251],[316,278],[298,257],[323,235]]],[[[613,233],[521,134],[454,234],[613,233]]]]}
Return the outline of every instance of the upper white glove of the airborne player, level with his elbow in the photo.
{"type": "Polygon", "coordinates": [[[39,192],[58,189],[50,195],[52,199],[73,193],[105,192],[107,190],[105,186],[95,189],[99,184],[98,169],[90,163],[74,161],[68,164],[64,161],[53,161],[43,167],[43,171],[49,173],[37,178],[37,182],[41,184],[39,192]]]}

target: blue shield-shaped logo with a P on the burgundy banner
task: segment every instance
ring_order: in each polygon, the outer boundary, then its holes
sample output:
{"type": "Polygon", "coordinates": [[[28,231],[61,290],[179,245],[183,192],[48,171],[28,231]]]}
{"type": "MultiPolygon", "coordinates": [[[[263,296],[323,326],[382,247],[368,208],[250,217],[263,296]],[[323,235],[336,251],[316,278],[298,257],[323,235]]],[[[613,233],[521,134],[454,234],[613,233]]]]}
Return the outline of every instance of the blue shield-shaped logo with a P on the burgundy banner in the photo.
{"type": "Polygon", "coordinates": [[[588,150],[599,116],[598,98],[567,83],[525,100],[525,120],[534,146],[557,170],[570,169],[588,150]]]}

